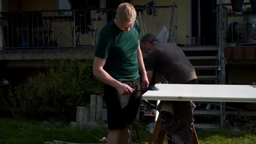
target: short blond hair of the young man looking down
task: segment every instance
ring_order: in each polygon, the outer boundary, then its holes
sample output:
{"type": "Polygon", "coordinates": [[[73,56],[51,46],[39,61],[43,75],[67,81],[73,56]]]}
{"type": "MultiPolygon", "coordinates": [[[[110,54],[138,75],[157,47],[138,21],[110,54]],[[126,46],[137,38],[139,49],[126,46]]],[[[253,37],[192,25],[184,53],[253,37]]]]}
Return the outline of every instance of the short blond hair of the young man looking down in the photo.
{"type": "Polygon", "coordinates": [[[117,8],[115,17],[120,21],[132,23],[136,19],[136,10],[130,3],[121,3],[117,8]]]}

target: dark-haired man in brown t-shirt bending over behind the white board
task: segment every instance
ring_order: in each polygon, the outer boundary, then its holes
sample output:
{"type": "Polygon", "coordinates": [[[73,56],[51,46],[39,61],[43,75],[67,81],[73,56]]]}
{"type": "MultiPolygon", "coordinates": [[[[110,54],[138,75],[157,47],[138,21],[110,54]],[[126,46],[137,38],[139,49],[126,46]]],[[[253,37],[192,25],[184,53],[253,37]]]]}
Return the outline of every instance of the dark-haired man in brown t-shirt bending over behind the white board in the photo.
{"type": "MultiPolygon", "coordinates": [[[[152,34],[144,35],[140,43],[142,51],[147,53],[144,63],[149,83],[154,79],[154,71],[164,76],[168,83],[196,83],[195,69],[177,45],[158,43],[152,34]]],[[[193,117],[189,101],[161,101],[158,110],[160,116],[165,115],[161,110],[170,110],[172,114],[164,123],[168,143],[192,143],[193,133],[190,126],[193,117]]]]}

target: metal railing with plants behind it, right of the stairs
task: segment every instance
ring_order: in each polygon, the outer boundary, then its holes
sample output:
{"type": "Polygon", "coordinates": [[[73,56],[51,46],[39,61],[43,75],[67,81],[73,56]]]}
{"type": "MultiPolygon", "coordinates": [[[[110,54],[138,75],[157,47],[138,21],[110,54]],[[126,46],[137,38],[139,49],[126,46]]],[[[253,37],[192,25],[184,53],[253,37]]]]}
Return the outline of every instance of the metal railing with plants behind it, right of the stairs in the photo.
{"type": "MultiPolygon", "coordinates": [[[[224,45],[243,45],[256,43],[254,38],[255,14],[252,13],[251,3],[243,3],[240,12],[232,11],[231,3],[220,3],[217,7],[218,33],[224,45]]],[[[220,37],[217,39],[220,40],[220,37]]]]}

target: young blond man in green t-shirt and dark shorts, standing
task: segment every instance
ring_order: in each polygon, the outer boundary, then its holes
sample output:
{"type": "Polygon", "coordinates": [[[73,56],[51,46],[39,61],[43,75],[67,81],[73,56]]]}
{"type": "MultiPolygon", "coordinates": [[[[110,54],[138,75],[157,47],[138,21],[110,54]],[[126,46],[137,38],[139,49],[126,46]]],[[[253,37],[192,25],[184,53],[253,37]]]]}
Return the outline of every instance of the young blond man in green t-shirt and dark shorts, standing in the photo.
{"type": "Polygon", "coordinates": [[[140,97],[135,90],[149,84],[139,47],[139,29],[135,8],[122,3],[115,19],[102,28],[97,41],[93,71],[105,83],[107,143],[128,142],[128,125],[138,118],[140,97]]]}

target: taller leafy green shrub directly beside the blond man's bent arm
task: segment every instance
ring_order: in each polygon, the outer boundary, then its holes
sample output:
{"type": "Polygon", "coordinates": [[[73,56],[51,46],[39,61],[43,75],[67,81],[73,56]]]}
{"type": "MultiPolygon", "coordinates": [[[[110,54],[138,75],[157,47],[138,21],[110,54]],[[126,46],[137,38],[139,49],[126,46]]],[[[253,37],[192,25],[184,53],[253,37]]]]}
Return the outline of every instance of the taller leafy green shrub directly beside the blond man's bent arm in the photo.
{"type": "Polygon", "coordinates": [[[51,95],[48,101],[70,115],[78,105],[87,105],[91,94],[102,94],[102,83],[92,74],[92,61],[62,60],[59,67],[49,67],[51,95]]]}

